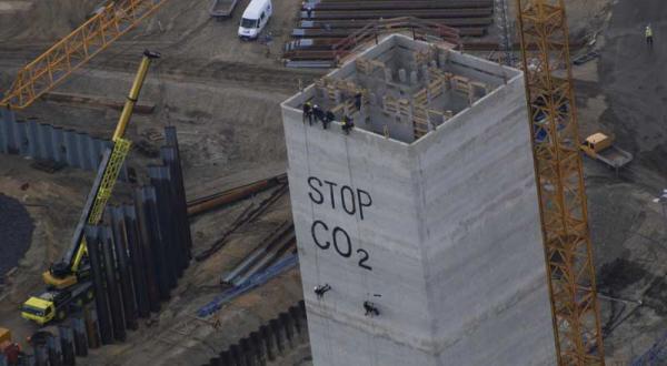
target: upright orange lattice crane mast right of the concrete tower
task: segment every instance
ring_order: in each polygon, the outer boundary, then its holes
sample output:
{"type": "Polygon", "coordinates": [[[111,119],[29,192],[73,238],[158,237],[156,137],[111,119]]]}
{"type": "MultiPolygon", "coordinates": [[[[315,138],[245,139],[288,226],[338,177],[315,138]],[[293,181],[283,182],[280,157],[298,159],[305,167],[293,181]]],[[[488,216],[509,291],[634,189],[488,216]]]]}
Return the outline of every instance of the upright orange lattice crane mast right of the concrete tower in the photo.
{"type": "Polygon", "coordinates": [[[605,365],[565,4],[517,6],[557,360],[605,365]]]}

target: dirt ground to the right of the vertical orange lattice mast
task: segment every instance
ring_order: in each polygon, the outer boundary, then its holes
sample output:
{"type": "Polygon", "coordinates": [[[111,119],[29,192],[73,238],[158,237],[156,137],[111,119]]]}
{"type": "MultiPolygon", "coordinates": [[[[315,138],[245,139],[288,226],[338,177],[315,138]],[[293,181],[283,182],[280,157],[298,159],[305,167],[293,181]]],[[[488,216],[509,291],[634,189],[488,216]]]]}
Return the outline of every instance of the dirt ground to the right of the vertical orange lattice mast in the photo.
{"type": "Polygon", "coordinates": [[[600,37],[599,82],[579,88],[583,102],[601,112],[591,126],[635,154],[619,177],[587,166],[600,291],[643,302],[603,303],[607,354],[620,362],[646,353],[667,332],[667,216],[653,202],[667,187],[666,16],[664,1],[615,1],[600,37]],[[647,23],[656,32],[653,49],[644,41],[647,23]]]}

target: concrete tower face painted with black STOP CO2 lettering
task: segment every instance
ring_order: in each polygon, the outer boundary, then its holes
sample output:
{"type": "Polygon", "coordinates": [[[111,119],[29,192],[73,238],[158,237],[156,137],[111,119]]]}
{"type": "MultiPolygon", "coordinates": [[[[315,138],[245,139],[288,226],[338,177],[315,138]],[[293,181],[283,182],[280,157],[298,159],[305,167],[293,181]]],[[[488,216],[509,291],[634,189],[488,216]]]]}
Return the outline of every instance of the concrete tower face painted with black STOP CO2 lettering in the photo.
{"type": "MultiPolygon", "coordinates": [[[[407,144],[378,139],[378,135],[362,130],[345,135],[338,123],[327,131],[309,126],[301,122],[301,113],[297,111],[283,110],[283,119],[292,213],[310,337],[316,339],[311,345],[317,364],[387,365],[382,362],[384,357],[374,356],[375,350],[358,347],[357,337],[346,336],[354,332],[392,344],[382,352],[390,350],[391,357],[398,357],[396,359],[424,358],[419,349],[432,349],[429,345],[432,319],[427,311],[421,250],[415,241],[419,235],[417,194],[412,191],[407,144]],[[309,194],[316,195],[308,185],[310,176],[322,182],[321,189],[317,182],[312,183],[323,195],[322,204],[318,205],[310,199],[309,194]],[[325,181],[337,184],[335,207],[325,181]],[[339,191],[342,185],[352,187],[355,192],[364,190],[371,197],[372,204],[364,209],[364,218],[358,209],[354,215],[344,210],[339,191]],[[318,220],[327,225],[328,233],[318,224],[313,238],[311,228],[318,220]],[[349,257],[339,254],[332,243],[335,227],[345,230],[350,237],[349,257]],[[320,245],[330,245],[329,248],[318,247],[315,240],[320,245]],[[359,250],[368,253],[368,261],[362,265],[371,270],[359,265],[362,258],[359,250]],[[318,299],[312,289],[326,283],[332,289],[318,299]],[[377,303],[380,316],[365,316],[365,301],[377,303]],[[337,332],[339,334],[335,336],[337,332]],[[340,357],[349,359],[328,356],[328,349],[340,347],[347,349],[340,357]]],[[[352,211],[349,194],[346,194],[346,200],[348,211],[352,211]]],[[[368,202],[366,195],[362,200],[368,202]]],[[[356,201],[359,202],[359,199],[356,201]]],[[[347,254],[344,234],[338,232],[337,238],[340,252],[347,254]]],[[[431,357],[431,362],[434,359],[431,357]]]]}

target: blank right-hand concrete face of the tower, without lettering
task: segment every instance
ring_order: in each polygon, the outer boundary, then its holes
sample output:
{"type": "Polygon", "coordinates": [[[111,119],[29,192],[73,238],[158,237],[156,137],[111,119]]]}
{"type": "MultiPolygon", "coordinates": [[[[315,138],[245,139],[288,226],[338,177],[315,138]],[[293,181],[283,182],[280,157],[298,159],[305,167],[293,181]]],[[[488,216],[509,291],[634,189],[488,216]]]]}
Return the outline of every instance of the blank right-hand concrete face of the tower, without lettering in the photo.
{"type": "Polygon", "coordinates": [[[442,364],[556,359],[527,121],[517,77],[412,146],[442,364]]]}

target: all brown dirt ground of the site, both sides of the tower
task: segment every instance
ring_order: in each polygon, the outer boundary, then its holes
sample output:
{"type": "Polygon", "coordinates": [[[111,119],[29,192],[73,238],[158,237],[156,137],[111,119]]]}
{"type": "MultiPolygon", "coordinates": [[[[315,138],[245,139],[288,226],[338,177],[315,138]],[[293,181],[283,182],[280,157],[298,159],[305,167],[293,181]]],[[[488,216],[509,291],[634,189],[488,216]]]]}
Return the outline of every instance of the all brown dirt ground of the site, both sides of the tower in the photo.
{"type": "MultiPolygon", "coordinates": [[[[9,87],[22,63],[82,22],[97,2],[0,1],[0,88],[9,87]]],[[[247,3],[239,1],[233,19],[216,21],[208,14],[209,1],[169,1],[156,17],[77,71],[57,91],[122,102],[141,51],[160,51],[162,59],[151,69],[140,98],[153,103],[155,112],[133,118],[129,140],[148,150],[157,149],[161,140],[156,131],[176,125],[189,199],[279,174],[287,165],[279,103],[300,83],[307,85],[325,71],[286,69],[280,63],[281,47],[295,24],[300,1],[273,2],[275,16],[268,26],[272,40],[268,43],[237,38],[238,20],[247,3]]],[[[667,3],[567,3],[573,33],[586,41],[595,39],[591,48],[601,53],[574,70],[581,135],[598,130],[613,133],[619,146],[635,154],[635,161],[618,175],[585,159],[598,287],[605,295],[600,307],[607,364],[627,365],[667,329],[667,217],[661,206],[653,203],[667,187],[667,80],[661,70],[667,59],[667,3]],[[656,32],[653,50],[644,43],[643,29],[648,22],[656,32]]],[[[118,114],[94,105],[39,101],[19,118],[109,138],[118,114]]],[[[139,175],[150,163],[149,155],[146,149],[130,155],[130,165],[139,175]]],[[[19,340],[37,329],[19,317],[19,306],[42,287],[41,272],[69,245],[93,179],[90,172],[69,167],[49,174],[30,167],[30,163],[0,155],[0,193],[21,202],[33,225],[30,246],[19,262],[11,263],[17,270],[0,286],[0,326],[11,328],[19,340]]],[[[119,192],[117,200],[127,201],[122,186],[119,192]]],[[[195,254],[220,237],[247,205],[269,194],[193,218],[195,254]]],[[[220,275],[290,215],[285,196],[237,232],[217,254],[201,263],[192,261],[172,299],[139,331],[130,332],[126,343],[96,349],[79,364],[205,364],[297,303],[302,298],[301,285],[298,271],[291,270],[215,316],[196,318],[197,309],[222,292],[220,275]],[[216,319],[220,321],[219,328],[212,326],[216,319]]],[[[0,222],[0,233],[12,224],[0,222]]],[[[6,261],[1,247],[0,260],[6,261]]],[[[277,364],[305,363],[308,348],[300,347],[277,364]]]]}

